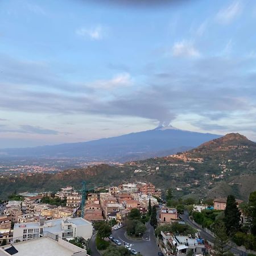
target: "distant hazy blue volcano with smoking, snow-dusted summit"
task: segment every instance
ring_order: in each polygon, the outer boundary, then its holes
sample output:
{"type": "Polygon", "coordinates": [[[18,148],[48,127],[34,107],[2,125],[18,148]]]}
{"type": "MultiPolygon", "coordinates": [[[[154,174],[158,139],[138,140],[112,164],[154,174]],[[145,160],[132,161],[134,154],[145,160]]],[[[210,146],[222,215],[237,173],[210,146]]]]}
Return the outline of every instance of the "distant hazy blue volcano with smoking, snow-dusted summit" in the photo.
{"type": "Polygon", "coordinates": [[[0,150],[0,156],[31,158],[84,157],[88,162],[127,162],[153,156],[175,154],[218,137],[220,135],[183,131],[172,126],[160,126],[154,130],[98,139],[96,141],[32,148],[7,148],[0,150]]]}

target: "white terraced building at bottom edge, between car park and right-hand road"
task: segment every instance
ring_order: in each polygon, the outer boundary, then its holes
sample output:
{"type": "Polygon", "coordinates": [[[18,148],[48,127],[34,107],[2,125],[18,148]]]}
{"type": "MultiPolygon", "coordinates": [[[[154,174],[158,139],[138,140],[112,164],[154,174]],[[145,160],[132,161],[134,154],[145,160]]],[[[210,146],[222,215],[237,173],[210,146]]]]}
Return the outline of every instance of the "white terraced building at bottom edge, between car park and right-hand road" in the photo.
{"type": "Polygon", "coordinates": [[[205,246],[203,240],[191,236],[175,236],[174,234],[161,231],[163,245],[160,249],[164,255],[185,256],[189,250],[193,254],[204,254],[205,246]]]}

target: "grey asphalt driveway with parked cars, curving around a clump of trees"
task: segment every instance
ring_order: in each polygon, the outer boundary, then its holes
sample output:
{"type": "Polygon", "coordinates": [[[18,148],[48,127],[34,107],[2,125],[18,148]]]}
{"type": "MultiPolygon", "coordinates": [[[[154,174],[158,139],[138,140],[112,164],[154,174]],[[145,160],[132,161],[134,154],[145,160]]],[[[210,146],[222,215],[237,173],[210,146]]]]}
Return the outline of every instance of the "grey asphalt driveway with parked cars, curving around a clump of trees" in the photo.
{"type": "Polygon", "coordinates": [[[113,230],[112,235],[122,242],[122,245],[124,245],[124,242],[131,243],[133,245],[131,246],[131,249],[139,251],[143,256],[158,255],[160,249],[156,245],[154,228],[152,228],[149,222],[147,222],[146,227],[146,233],[141,240],[131,240],[130,238],[127,238],[125,228],[113,230]]]}

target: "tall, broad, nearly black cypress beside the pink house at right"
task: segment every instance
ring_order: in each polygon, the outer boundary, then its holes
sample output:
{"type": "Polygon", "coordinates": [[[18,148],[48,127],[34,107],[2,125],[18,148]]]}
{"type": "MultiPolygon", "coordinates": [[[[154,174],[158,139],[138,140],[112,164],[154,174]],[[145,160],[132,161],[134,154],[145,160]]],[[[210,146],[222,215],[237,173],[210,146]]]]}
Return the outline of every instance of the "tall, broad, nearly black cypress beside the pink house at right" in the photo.
{"type": "Polygon", "coordinates": [[[233,236],[240,228],[240,215],[241,213],[237,207],[236,199],[233,195],[229,195],[224,211],[224,222],[226,232],[229,236],[233,236]]]}

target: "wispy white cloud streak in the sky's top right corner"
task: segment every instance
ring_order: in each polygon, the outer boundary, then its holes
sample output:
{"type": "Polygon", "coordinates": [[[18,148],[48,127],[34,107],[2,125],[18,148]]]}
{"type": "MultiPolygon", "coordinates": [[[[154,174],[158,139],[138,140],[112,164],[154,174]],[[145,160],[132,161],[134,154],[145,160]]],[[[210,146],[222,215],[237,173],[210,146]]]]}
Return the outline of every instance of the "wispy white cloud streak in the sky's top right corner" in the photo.
{"type": "Polygon", "coordinates": [[[218,11],[216,20],[221,24],[229,24],[241,14],[242,5],[240,1],[234,1],[228,7],[218,11]]]}

